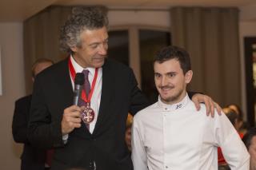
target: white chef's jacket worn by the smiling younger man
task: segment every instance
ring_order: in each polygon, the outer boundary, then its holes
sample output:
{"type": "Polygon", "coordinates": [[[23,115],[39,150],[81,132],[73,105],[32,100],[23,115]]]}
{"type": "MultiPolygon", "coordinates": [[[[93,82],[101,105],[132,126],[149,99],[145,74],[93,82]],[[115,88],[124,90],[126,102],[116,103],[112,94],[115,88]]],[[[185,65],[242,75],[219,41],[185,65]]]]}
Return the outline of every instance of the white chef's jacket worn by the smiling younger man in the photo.
{"type": "Polygon", "coordinates": [[[231,169],[249,169],[250,156],[226,115],[196,111],[186,95],[174,105],[160,99],[138,112],[132,127],[134,170],[217,170],[218,153],[231,169]]]}

